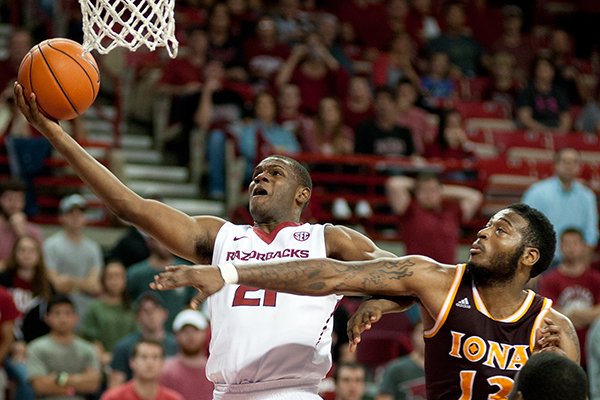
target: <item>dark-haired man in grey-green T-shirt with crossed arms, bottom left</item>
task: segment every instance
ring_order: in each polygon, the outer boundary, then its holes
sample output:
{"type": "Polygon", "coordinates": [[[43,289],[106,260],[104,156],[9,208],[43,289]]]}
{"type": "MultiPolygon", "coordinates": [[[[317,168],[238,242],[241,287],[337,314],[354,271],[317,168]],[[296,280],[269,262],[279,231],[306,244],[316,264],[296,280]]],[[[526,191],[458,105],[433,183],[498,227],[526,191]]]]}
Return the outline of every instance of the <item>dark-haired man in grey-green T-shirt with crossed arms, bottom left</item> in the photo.
{"type": "Polygon", "coordinates": [[[83,400],[100,385],[94,346],[77,337],[75,304],[65,295],[48,302],[50,333],[27,347],[27,374],[37,398],[83,400]]]}

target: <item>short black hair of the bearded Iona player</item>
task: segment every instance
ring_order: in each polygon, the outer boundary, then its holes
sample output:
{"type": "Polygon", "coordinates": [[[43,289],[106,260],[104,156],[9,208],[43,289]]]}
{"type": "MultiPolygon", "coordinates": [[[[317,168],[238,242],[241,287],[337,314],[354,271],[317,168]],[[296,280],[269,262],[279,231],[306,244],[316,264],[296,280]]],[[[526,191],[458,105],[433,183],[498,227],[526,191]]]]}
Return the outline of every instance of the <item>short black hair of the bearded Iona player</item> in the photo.
{"type": "Polygon", "coordinates": [[[511,204],[509,210],[519,214],[527,221],[527,231],[523,235],[523,245],[535,247],[540,258],[531,268],[530,277],[536,277],[548,269],[556,250],[556,233],[548,218],[537,209],[524,203],[511,204]]]}

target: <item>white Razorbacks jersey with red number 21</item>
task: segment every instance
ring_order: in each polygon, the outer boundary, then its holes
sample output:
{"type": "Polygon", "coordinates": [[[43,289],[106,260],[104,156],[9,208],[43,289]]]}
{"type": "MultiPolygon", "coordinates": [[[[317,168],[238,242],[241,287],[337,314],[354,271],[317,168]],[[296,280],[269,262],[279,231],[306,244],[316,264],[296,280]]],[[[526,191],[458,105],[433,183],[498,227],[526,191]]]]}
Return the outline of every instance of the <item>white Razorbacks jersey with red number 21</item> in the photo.
{"type": "MultiPolygon", "coordinates": [[[[212,263],[324,258],[324,232],[324,225],[285,223],[266,234],[227,222],[217,235],[212,263]]],[[[207,300],[208,378],[224,392],[316,385],[331,367],[339,299],[225,285],[207,300]]]]}

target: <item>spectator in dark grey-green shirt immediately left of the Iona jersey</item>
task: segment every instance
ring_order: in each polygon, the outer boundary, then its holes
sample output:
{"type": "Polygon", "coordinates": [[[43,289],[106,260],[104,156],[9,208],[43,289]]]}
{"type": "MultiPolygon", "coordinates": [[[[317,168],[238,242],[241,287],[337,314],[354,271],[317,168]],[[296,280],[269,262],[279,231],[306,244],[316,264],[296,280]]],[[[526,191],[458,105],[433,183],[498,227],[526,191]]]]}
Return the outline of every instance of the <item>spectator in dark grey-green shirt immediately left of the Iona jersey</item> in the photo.
{"type": "Polygon", "coordinates": [[[383,370],[375,400],[425,400],[425,342],[423,324],[415,325],[410,354],[391,361],[383,370]]]}

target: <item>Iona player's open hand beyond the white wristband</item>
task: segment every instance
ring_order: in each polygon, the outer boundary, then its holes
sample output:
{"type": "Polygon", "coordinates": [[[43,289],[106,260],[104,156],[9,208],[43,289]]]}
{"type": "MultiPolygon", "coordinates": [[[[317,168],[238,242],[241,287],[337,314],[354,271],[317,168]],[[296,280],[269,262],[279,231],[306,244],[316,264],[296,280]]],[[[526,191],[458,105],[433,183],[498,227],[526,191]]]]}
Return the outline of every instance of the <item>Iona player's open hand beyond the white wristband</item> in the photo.
{"type": "Polygon", "coordinates": [[[170,265],[160,274],[154,275],[150,288],[171,290],[192,286],[198,295],[192,300],[192,308],[198,308],[208,296],[221,290],[225,282],[219,269],[212,265],[170,265]]]}

